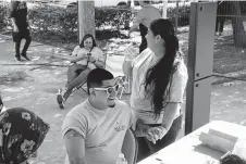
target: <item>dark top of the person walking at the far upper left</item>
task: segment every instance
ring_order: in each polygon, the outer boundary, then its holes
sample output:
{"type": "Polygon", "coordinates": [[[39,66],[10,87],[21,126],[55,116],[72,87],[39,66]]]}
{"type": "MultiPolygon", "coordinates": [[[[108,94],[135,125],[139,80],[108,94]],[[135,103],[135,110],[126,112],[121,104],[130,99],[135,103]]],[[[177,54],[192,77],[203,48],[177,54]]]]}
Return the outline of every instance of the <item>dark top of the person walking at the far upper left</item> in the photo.
{"type": "Polygon", "coordinates": [[[27,5],[26,2],[12,1],[10,7],[10,17],[15,18],[16,26],[20,30],[26,29],[27,23],[27,5]]]}

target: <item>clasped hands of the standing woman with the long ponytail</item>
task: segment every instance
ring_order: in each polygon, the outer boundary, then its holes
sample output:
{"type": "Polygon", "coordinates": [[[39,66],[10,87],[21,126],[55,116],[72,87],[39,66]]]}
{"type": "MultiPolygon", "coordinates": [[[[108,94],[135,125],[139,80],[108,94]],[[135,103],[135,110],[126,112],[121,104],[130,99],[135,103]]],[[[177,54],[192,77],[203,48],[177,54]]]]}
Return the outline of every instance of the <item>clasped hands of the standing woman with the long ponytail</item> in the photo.
{"type": "Polygon", "coordinates": [[[146,138],[156,144],[156,142],[161,140],[167,135],[167,133],[168,129],[163,126],[151,127],[148,129],[146,138]]]}

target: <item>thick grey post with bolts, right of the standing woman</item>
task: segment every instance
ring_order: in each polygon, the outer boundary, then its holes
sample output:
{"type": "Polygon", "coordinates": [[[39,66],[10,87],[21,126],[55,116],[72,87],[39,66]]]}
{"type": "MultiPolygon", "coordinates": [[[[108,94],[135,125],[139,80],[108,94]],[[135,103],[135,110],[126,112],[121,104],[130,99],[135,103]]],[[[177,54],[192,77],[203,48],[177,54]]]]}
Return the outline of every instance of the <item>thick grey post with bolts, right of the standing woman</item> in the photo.
{"type": "Polygon", "coordinates": [[[190,5],[185,135],[210,118],[216,13],[217,2],[193,2],[190,5]]]}

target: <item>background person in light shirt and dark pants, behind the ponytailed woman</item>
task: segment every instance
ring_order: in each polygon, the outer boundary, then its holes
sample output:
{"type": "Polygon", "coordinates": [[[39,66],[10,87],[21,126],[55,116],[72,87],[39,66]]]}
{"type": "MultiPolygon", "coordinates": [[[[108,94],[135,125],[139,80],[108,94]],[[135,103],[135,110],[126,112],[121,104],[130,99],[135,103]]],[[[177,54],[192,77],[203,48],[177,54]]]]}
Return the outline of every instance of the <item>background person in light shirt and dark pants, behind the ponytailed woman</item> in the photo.
{"type": "Polygon", "coordinates": [[[145,36],[148,31],[149,24],[156,18],[161,18],[161,14],[157,8],[150,5],[150,1],[140,0],[139,5],[142,7],[142,10],[138,11],[135,22],[128,30],[128,36],[139,26],[142,36],[142,43],[139,46],[140,53],[147,48],[147,40],[145,36]]]}

